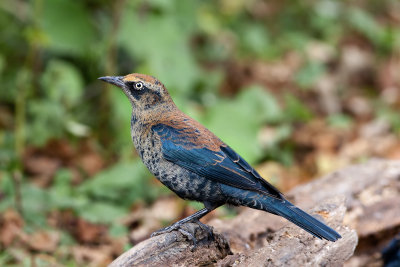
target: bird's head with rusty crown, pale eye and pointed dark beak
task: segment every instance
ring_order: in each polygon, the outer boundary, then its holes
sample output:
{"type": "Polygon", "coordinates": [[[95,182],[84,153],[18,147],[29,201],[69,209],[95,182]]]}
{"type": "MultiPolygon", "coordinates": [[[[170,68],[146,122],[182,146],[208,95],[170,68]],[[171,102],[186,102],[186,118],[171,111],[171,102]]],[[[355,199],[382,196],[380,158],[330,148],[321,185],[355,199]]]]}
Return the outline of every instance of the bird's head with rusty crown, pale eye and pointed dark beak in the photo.
{"type": "Polygon", "coordinates": [[[126,76],[105,76],[99,80],[120,87],[134,109],[146,110],[161,103],[172,102],[165,86],[153,76],[132,73],[126,76]]]}

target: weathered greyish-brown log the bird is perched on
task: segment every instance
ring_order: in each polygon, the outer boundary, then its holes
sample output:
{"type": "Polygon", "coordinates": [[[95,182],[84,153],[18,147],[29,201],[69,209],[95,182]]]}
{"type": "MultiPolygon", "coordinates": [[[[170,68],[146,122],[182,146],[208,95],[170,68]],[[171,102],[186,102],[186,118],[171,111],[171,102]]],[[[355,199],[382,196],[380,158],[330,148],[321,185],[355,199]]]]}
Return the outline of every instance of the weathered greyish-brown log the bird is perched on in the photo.
{"type": "Polygon", "coordinates": [[[361,266],[368,260],[376,262],[380,247],[399,230],[399,192],[400,161],[371,160],[287,194],[338,230],[342,238],[337,242],[313,238],[278,216],[245,209],[234,219],[211,221],[213,238],[196,224],[188,224],[187,230],[199,239],[193,251],[191,240],[171,232],[137,244],[110,266],[361,266]],[[356,255],[347,262],[358,238],[345,225],[356,229],[360,238],[356,255]]]}

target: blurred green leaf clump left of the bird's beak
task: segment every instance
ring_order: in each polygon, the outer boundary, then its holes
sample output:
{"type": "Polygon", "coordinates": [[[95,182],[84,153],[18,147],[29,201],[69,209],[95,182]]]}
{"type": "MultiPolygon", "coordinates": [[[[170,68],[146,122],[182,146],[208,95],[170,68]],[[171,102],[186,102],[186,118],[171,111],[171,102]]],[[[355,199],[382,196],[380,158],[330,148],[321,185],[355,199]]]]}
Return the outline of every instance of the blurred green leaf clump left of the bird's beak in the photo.
{"type": "Polygon", "coordinates": [[[61,60],[51,60],[41,77],[43,95],[28,104],[30,117],[28,135],[33,144],[43,145],[51,138],[63,137],[66,132],[85,135],[86,129],[71,127],[74,108],[82,105],[83,80],[76,67],[61,60]],[[51,129],[49,131],[49,129],[51,129]]]}

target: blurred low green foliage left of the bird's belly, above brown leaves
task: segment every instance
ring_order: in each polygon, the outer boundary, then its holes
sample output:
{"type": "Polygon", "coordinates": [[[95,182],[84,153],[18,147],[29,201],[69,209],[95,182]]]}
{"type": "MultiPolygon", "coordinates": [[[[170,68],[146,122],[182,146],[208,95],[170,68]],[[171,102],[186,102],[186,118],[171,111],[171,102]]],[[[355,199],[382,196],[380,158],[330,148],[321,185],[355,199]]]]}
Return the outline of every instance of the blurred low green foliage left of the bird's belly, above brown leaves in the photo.
{"type": "MultiPolygon", "coordinates": [[[[116,224],[118,218],[127,214],[132,203],[151,201],[161,193],[150,185],[150,174],[139,160],[118,163],[78,188],[72,187],[71,175],[68,169],[60,169],[47,190],[30,183],[22,185],[22,208],[26,221],[43,226],[50,211],[73,210],[91,222],[116,224]]],[[[15,205],[15,188],[10,176],[4,175],[0,183],[4,196],[0,211],[4,211],[15,205]]],[[[121,230],[116,227],[115,231],[121,230]]]]}

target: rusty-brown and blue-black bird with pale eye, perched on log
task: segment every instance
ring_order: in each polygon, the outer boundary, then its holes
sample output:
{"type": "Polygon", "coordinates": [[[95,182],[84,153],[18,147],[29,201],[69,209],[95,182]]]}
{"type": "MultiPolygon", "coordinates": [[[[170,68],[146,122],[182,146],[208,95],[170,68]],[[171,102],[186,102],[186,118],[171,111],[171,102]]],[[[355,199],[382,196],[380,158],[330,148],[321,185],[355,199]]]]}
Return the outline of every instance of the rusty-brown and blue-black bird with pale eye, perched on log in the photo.
{"type": "Polygon", "coordinates": [[[203,209],[152,236],[180,230],[188,222],[207,227],[200,219],[230,204],[282,216],[319,239],[341,238],[335,230],[289,202],[231,147],[183,113],[155,77],[132,73],[98,79],[116,85],[128,97],[132,106],[132,141],[150,172],[180,198],[204,204],[203,209]]]}

